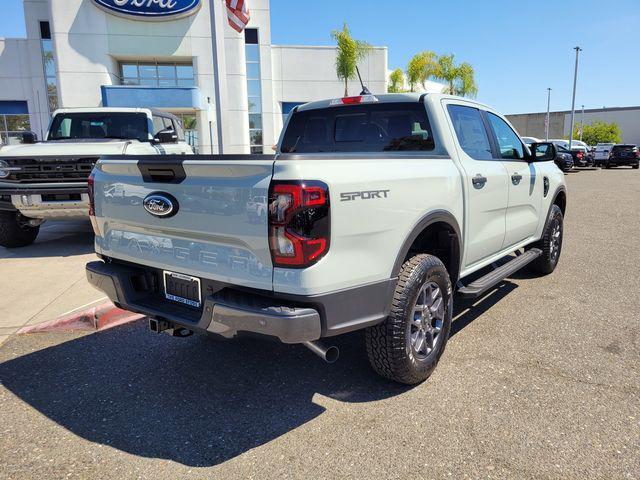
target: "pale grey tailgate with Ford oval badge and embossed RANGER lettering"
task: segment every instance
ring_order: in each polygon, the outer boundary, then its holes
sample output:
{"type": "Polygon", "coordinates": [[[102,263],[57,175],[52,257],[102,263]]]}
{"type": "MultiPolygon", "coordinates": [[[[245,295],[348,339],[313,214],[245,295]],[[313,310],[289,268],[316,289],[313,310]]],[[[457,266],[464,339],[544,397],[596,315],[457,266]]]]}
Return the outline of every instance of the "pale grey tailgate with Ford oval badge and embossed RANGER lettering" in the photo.
{"type": "Polygon", "coordinates": [[[93,173],[96,250],[271,290],[266,212],[273,163],[248,155],[105,157],[93,173]],[[171,215],[152,213],[152,194],[175,204],[171,215]]]}

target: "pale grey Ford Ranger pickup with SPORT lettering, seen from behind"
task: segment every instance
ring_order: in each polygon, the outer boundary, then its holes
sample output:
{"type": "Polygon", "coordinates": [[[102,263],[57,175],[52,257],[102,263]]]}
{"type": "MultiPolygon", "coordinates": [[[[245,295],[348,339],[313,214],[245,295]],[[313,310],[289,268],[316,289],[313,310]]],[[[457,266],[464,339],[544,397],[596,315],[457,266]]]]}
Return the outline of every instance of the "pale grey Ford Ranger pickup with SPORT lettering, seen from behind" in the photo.
{"type": "Polygon", "coordinates": [[[421,382],[454,292],[555,269],[566,192],[554,157],[458,97],[309,103],[272,157],[102,158],[90,179],[101,261],[87,276],[176,336],[261,334],[334,361],[329,339],[364,329],[378,373],[421,382]],[[266,215],[248,216],[260,202],[266,215]]]}

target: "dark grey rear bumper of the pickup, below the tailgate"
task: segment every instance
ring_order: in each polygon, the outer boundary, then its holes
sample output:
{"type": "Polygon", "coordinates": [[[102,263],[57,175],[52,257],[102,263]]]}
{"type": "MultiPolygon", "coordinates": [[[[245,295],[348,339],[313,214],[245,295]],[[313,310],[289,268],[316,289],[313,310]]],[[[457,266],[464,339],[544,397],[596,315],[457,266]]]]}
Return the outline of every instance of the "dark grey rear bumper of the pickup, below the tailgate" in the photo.
{"type": "Polygon", "coordinates": [[[319,296],[277,295],[212,284],[203,287],[203,306],[193,309],[166,300],[157,272],[148,267],[91,262],[87,279],[118,306],[168,320],[194,331],[232,338],[249,332],[302,343],[358,330],[388,315],[395,279],[319,296]],[[217,290],[216,290],[217,288],[217,290]],[[215,292],[213,290],[216,290],[215,292]]]}

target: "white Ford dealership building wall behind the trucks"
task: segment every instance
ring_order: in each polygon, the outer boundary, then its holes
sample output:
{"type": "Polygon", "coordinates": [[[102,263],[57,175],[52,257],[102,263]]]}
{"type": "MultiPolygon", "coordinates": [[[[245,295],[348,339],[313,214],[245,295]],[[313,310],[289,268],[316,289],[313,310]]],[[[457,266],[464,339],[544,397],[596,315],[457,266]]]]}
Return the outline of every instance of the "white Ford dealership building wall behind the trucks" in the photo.
{"type": "MultiPolygon", "coordinates": [[[[26,100],[37,133],[46,131],[49,122],[39,31],[39,22],[49,21],[60,107],[103,105],[109,89],[120,88],[121,62],[188,62],[193,64],[198,100],[162,108],[196,115],[200,152],[217,152],[221,142],[225,153],[249,151],[245,37],[227,24],[224,2],[203,0],[194,15],[162,22],[111,15],[91,0],[28,0],[24,9],[27,38],[0,40],[0,100],[26,100]]],[[[305,103],[343,94],[335,75],[334,47],[274,46],[270,23],[269,0],[253,0],[248,28],[259,32],[267,153],[282,129],[283,102],[305,103]]],[[[385,47],[374,48],[360,69],[374,93],[386,92],[385,47]]],[[[360,85],[350,82],[349,89],[359,93],[360,85]]],[[[154,92],[140,87],[138,93],[148,99],[154,92]]]]}

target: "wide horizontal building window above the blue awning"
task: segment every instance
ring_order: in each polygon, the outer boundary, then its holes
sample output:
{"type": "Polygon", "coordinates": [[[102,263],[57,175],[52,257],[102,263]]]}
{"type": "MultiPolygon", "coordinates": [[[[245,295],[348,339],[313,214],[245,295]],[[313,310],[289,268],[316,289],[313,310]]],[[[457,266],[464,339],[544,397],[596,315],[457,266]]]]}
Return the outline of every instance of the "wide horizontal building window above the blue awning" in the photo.
{"type": "Polygon", "coordinates": [[[120,83],[147,87],[193,87],[193,64],[122,62],[120,83]]]}

